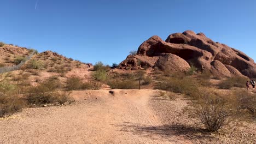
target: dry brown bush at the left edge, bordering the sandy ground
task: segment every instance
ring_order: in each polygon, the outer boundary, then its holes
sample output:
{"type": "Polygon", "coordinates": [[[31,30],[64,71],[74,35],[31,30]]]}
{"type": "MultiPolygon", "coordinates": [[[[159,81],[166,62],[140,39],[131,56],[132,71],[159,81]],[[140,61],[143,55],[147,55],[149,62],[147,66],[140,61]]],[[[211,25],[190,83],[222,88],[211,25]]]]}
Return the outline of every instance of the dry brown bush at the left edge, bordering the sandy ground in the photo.
{"type": "Polygon", "coordinates": [[[24,100],[17,95],[5,95],[0,92],[0,117],[8,117],[26,107],[24,100]]]}

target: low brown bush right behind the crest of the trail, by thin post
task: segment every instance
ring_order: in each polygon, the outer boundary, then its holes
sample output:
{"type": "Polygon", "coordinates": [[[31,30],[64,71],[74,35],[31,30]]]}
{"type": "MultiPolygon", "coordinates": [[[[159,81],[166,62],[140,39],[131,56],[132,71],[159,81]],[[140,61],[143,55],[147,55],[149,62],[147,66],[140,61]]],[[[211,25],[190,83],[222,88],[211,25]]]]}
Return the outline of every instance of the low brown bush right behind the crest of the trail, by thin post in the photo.
{"type": "Polygon", "coordinates": [[[138,82],[135,80],[109,80],[107,83],[112,89],[138,89],[138,82]]]}

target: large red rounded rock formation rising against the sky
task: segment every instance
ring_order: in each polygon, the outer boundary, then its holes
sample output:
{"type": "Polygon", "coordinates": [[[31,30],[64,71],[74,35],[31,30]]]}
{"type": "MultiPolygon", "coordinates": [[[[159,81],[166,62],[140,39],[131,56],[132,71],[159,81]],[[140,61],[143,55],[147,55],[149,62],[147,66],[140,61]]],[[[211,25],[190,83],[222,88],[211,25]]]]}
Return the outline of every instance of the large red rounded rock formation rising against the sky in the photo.
{"type": "Polygon", "coordinates": [[[214,42],[203,33],[174,33],[164,41],[154,35],[142,43],[136,55],[129,55],[119,69],[159,68],[187,71],[191,65],[214,76],[256,77],[256,64],[245,53],[214,42]]]}

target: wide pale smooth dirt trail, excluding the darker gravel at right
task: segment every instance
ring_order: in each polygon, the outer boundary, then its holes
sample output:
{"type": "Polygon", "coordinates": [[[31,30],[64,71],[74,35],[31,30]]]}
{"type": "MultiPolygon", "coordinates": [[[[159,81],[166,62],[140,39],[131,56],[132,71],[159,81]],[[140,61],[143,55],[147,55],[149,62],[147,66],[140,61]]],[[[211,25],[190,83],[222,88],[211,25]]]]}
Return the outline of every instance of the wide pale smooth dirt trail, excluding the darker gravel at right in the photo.
{"type": "Polygon", "coordinates": [[[75,91],[76,104],[26,109],[0,121],[0,143],[190,143],[163,137],[164,132],[150,134],[162,125],[149,105],[155,94],[150,89],[115,89],[114,95],[75,91]]]}

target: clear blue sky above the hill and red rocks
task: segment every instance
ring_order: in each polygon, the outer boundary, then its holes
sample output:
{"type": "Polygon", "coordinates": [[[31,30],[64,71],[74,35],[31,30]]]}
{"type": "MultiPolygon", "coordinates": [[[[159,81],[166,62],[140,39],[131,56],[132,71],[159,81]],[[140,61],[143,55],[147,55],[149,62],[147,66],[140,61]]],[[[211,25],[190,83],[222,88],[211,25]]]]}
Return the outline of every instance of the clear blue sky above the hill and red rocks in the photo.
{"type": "Polygon", "coordinates": [[[152,35],[203,32],[256,59],[256,1],[1,0],[0,41],[120,63],[152,35]]]}

